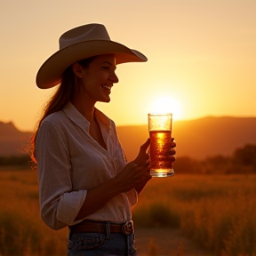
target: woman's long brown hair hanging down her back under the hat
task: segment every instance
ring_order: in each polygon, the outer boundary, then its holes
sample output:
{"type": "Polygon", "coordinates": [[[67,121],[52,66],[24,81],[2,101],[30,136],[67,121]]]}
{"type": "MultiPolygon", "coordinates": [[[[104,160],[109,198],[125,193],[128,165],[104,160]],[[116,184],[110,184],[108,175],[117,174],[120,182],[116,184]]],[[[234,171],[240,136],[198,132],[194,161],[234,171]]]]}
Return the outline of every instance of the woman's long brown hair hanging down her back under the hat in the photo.
{"type": "MultiPolygon", "coordinates": [[[[92,60],[94,60],[96,56],[92,56],[90,58],[77,61],[83,68],[88,68],[92,60]]],[[[31,160],[36,164],[36,135],[38,133],[40,124],[44,120],[46,116],[51,115],[54,112],[60,111],[69,100],[72,99],[75,93],[81,92],[81,79],[75,75],[73,72],[73,65],[69,66],[61,77],[61,82],[52,98],[46,103],[42,117],[38,120],[35,132],[32,135],[30,140],[30,156],[31,160]]]]}

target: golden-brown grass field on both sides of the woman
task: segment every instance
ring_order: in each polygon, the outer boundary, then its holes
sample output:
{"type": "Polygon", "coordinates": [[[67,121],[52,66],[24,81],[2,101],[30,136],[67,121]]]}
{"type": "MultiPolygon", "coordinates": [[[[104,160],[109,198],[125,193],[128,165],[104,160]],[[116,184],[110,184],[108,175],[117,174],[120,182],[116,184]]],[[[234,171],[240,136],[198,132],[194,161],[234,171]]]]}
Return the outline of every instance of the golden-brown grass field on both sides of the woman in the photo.
{"type": "MultiPolygon", "coordinates": [[[[66,255],[68,228],[40,219],[36,171],[1,171],[0,188],[0,255],[66,255]]],[[[178,228],[212,256],[255,256],[255,213],[256,175],[176,174],[150,180],[133,220],[135,228],[178,228]]]]}

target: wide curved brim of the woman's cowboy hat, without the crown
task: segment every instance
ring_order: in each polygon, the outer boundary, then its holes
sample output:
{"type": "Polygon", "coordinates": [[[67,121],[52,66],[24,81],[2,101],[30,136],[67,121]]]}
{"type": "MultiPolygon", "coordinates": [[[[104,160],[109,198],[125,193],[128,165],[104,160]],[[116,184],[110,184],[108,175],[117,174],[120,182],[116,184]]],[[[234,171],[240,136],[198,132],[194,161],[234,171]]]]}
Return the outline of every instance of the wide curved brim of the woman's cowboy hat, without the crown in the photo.
{"type": "Polygon", "coordinates": [[[36,84],[41,89],[52,88],[60,84],[63,72],[78,60],[102,54],[115,54],[116,64],[125,62],[143,62],[147,57],[123,44],[107,40],[92,40],[72,44],[45,60],[36,75],[36,84]]]}

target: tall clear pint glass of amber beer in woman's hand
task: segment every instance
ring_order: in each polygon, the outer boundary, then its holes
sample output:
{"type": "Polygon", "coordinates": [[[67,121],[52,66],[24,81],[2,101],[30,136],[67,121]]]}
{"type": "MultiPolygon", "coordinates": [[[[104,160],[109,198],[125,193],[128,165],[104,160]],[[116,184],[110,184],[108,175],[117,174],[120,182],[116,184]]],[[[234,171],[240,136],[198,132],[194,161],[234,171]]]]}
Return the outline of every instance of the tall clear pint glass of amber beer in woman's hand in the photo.
{"type": "Polygon", "coordinates": [[[152,177],[169,177],[172,169],[172,114],[148,114],[150,136],[150,174],[152,177]]]}

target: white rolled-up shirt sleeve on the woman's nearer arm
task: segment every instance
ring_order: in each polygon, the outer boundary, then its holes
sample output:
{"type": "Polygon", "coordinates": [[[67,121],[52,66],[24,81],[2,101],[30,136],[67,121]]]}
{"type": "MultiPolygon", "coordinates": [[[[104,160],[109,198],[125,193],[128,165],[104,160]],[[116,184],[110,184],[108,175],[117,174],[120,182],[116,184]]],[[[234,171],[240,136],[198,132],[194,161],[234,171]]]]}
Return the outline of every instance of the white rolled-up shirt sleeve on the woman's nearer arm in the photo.
{"type": "Polygon", "coordinates": [[[55,230],[76,224],[87,190],[72,191],[67,137],[48,121],[36,135],[36,160],[42,220],[55,230]]]}

